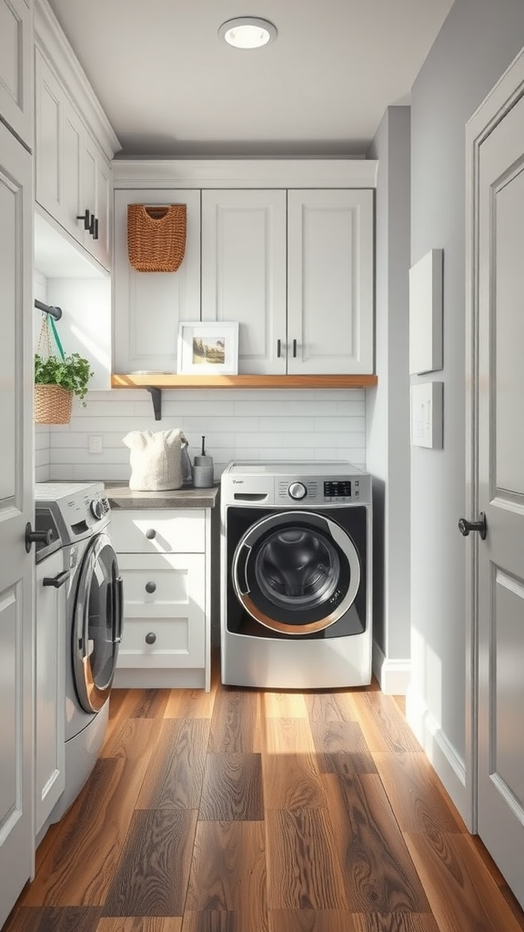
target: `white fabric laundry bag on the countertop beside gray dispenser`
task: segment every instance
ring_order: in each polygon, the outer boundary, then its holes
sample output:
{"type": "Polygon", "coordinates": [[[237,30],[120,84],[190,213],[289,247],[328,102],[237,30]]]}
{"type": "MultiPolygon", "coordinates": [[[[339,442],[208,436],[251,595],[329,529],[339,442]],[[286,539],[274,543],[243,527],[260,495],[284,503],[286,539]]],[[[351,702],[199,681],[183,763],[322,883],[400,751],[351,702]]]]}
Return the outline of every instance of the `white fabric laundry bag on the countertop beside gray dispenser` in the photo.
{"type": "Polygon", "coordinates": [[[183,460],[188,459],[182,431],[131,431],[122,438],[131,450],[130,488],[135,492],[164,492],[182,488],[183,460]]]}

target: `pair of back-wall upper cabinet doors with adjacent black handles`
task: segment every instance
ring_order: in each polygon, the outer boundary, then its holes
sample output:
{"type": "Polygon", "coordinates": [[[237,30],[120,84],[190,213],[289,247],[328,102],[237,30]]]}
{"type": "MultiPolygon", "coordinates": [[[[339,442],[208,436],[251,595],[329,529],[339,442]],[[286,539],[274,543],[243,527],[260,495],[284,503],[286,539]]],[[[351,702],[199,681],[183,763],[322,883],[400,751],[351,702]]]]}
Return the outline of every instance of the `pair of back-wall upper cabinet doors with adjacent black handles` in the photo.
{"type": "Polygon", "coordinates": [[[241,373],[372,373],[373,191],[203,191],[202,319],[241,373]]]}

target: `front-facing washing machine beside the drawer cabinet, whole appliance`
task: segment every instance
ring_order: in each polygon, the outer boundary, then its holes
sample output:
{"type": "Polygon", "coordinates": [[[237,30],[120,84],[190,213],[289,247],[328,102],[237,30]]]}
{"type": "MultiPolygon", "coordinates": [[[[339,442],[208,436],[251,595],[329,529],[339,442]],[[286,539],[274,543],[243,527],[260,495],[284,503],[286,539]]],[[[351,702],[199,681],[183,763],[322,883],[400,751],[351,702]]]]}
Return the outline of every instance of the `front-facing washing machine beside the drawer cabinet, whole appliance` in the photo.
{"type": "Polygon", "coordinates": [[[371,476],[342,460],[233,460],[221,477],[222,682],[371,681],[371,476]]]}

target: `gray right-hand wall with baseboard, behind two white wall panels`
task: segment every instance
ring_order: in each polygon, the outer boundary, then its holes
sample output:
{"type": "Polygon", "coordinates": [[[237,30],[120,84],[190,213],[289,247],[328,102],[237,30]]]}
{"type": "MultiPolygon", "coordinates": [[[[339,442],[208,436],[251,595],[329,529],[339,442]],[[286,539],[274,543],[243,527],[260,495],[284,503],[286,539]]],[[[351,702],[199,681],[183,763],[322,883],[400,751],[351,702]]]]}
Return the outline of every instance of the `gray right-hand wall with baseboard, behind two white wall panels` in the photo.
{"type": "MultiPolygon", "coordinates": [[[[444,448],[411,448],[407,716],[461,809],[465,754],[464,126],[524,46],[523,0],[456,0],[412,89],[411,264],[444,250],[444,448]]],[[[425,380],[415,377],[412,381],[425,380]]]]}

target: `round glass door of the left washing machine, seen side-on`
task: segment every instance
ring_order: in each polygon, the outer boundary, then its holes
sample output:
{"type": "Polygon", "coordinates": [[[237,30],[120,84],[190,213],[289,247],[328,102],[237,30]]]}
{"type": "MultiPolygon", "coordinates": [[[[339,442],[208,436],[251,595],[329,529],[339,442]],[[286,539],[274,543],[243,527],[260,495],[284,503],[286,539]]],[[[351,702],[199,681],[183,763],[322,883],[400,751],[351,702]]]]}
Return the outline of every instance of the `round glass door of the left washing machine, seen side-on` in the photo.
{"type": "Polygon", "coordinates": [[[98,712],[111,691],[122,629],[122,581],[107,534],[96,535],[82,560],[76,587],[73,668],[78,699],[98,712]]]}

